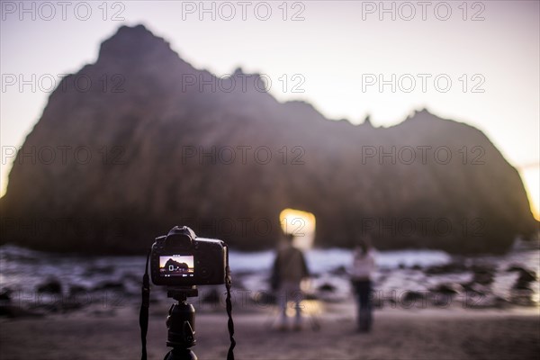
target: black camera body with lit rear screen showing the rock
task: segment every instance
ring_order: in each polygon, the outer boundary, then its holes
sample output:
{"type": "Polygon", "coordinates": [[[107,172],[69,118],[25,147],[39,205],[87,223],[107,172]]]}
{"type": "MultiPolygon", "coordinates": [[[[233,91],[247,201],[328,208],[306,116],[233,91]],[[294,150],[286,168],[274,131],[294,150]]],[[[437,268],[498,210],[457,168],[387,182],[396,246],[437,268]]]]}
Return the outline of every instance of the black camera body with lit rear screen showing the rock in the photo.
{"type": "Polygon", "coordinates": [[[162,286],[225,284],[227,246],[219,239],[197,238],[175,226],[156,238],[150,252],[152,283],[162,286]]]}

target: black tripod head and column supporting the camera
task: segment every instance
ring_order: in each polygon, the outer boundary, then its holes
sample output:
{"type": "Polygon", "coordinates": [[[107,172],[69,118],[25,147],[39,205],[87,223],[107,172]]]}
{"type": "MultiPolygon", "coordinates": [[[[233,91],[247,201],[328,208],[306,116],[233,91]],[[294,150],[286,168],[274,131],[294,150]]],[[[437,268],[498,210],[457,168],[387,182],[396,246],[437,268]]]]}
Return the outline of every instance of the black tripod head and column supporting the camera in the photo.
{"type": "Polygon", "coordinates": [[[172,347],[164,360],[197,360],[197,356],[190,349],[195,346],[195,309],[186,302],[188,297],[199,294],[196,286],[168,287],[166,296],[175,299],[177,304],[171,305],[166,317],[168,334],[166,346],[172,347]]]}

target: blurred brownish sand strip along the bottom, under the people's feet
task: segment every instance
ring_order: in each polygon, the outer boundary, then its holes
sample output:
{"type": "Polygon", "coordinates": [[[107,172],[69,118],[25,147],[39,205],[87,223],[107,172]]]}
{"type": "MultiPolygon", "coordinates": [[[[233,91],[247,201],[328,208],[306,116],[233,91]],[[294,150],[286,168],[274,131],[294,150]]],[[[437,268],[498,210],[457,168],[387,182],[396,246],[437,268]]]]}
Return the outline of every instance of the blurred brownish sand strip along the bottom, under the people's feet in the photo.
{"type": "MultiPolygon", "coordinates": [[[[167,348],[165,303],[151,307],[148,359],[167,348]]],[[[196,316],[200,359],[225,359],[229,338],[224,311],[196,316]]],[[[471,311],[383,309],[374,329],[355,332],[351,302],[328,305],[309,316],[300,332],[272,329],[275,309],[235,314],[238,359],[537,359],[538,309],[471,311]],[[315,325],[320,325],[316,330],[315,325]]],[[[140,357],[138,309],[76,311],[43,318],[0,320],[0,358],[136,359],[140,357]]]]}

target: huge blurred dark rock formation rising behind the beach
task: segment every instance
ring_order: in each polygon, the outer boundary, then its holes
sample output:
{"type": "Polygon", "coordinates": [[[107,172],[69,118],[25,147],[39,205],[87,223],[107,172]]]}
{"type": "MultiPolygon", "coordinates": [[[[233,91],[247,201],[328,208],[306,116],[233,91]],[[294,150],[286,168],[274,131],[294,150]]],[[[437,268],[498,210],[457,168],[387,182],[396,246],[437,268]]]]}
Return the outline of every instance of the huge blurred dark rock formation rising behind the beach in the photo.
{"type": "Polygon", "coordinates": [[[50,95],[9,175],[2,242],[136,253],[188,225],[257,249],[288,207],[315,214],[320,246],[369,234],[379,248],[500,252],[537,230],[518,172],[480,130],[427,111],[387,129],[329,121],[264,87],[122,27],[50,95]]]}

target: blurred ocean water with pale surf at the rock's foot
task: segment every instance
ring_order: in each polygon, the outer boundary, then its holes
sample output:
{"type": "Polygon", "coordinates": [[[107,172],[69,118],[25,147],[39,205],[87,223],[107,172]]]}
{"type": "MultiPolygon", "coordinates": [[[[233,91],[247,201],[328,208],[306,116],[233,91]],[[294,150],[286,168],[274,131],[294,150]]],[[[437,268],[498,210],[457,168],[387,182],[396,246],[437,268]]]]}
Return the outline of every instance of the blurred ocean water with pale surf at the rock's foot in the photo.
{"type": "MultiPolygon", "coordinates": [[[[233,284],[257,293],[268,290],[267,279],[275,253],[262,251],[244,253],[231,251],[229,264],[233,284]]],[[[491,293],[505,299],[512,295],[512,286],[518,274],[508,272],[509,266],[518,265],[540,273],[540,249],[512,251],[505,256],[452,257],[438,250],[381,251],[375,254],[377,271],[374,284],[377,291],[387,296],[392,292],[423,292],[438,284],[464,284],[473,279],[470,271],[442,275],[428,275],[429,266],[440,266],[457,261],[468,265],[488,265],[495,268],[491,293]]],[[[329,302],[350,299],[351,291],[343,269],[352,262],[350,250],[329,248],[311,249],[306,260],[313,277],[304,289],[329,302]],[[320,291],[330,286],[331,292],[320,291]]],[[[99,293],[120,291],[133,302],[139,301],[140,278],[144,273],[145,257],[81,257],[49,254],[6,245],[0,247],[0,289],[19,293],[20,297],[35,299],[40,284],[52,279],[62,285],[62,293],[99,293]]],[[[539,283],[531,286],[534,302],[539,301],[539,283]]],[[[1,290],[0,290],[1,291],[1,290]]]]}

